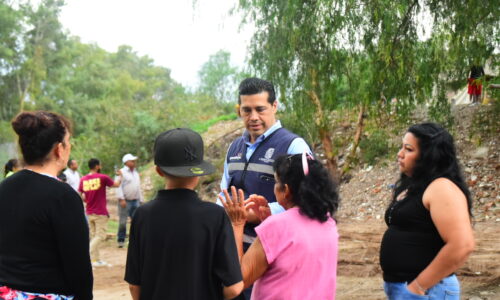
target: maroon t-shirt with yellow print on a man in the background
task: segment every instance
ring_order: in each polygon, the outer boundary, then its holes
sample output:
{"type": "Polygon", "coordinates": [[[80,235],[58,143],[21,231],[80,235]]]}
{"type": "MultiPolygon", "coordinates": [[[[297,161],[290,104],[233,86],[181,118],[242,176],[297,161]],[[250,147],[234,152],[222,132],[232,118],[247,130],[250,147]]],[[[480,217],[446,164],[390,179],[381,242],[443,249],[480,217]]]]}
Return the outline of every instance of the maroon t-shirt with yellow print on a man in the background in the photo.
{"type": "Polygon", "coordinates": [[[109,215],[106,208],[106,187],[113,184],[113,179],[100,173],[88,174],[80,179],[78,191],[85,195],[87,215],[109,215]]]}

